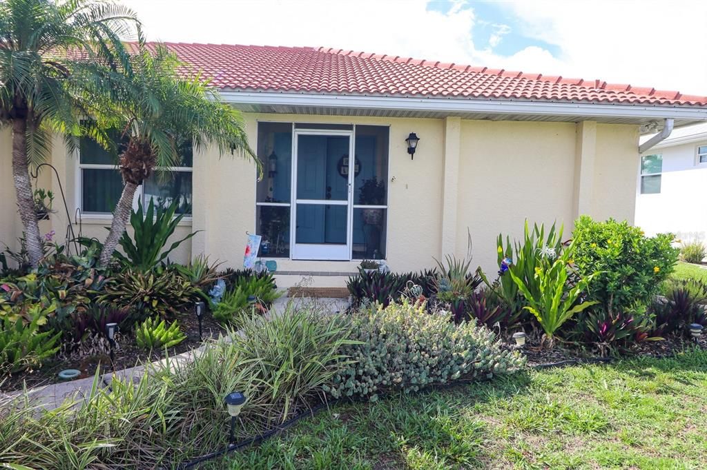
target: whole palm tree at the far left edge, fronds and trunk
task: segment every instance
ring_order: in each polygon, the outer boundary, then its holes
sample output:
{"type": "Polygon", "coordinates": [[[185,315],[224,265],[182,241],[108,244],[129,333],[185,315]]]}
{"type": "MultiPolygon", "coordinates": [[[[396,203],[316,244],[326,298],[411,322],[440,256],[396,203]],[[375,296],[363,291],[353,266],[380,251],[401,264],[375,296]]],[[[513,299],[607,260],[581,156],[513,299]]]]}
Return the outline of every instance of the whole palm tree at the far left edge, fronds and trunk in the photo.
{"type": "Polygon", "coordinates": [[[52,133],[70,147],[82,110],[70,58],[129,68],[123,39],[139,37],[132,11],[100,0],[0,1],[0,126],[12,128],[12,171],[30,265],[42,257],[29,165],[49,155],[52,133]]]}

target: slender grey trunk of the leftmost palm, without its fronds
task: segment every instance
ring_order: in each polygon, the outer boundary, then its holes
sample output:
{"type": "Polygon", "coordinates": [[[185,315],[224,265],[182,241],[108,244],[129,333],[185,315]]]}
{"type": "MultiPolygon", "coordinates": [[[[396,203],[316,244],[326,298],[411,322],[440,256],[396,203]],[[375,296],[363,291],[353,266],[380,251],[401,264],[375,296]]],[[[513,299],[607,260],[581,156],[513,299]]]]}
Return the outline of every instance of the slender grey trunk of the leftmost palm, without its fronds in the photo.
{"type": "Polygon", "coordinates": [[[14,119],[12,123],[12,179],[15,182],[17,207],[25,232],[25,244],[30,257],[31,267],[37,267],[42,252],[40,227],[35,215],[35,203],[32,197],[32,183],[27,163],[27,120],[14,119]]]}

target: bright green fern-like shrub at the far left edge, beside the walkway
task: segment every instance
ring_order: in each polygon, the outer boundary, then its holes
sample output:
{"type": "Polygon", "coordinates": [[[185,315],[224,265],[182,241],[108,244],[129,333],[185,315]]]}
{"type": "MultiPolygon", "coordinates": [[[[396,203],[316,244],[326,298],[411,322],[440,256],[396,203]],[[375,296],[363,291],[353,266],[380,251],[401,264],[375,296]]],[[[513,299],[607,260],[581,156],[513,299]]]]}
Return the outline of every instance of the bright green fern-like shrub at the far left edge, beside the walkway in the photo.
{"type": "Polygon", "coordinates": [[[41,366],[42,362],[57,354],[56,346],[61,333],[52,330],[39,332],[46,318],[37,315],[25,323],[22,318],[4,318],[0,323],[0,372],[16,373],[26,368],[41,366]]]}

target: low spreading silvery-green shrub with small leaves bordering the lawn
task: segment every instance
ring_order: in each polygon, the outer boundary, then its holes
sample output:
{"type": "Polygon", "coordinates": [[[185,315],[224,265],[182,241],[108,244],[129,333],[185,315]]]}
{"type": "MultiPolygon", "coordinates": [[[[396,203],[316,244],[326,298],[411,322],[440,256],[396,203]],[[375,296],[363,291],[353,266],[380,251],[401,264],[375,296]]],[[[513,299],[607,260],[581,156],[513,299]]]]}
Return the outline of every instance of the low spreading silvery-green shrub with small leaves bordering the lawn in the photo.
{"type": "Polygon", "coordinates": [[[355,361],[334,375],[327,391],[333,397],[368,397],[402,390],[412,392],[460,379],[513,373],[523,364],[517,353],[501,347],[495,335],[474,323],[450,323],[429,315],[423,303],[391,303],[349,316],[351,339],[341,354],[355,361]]]}

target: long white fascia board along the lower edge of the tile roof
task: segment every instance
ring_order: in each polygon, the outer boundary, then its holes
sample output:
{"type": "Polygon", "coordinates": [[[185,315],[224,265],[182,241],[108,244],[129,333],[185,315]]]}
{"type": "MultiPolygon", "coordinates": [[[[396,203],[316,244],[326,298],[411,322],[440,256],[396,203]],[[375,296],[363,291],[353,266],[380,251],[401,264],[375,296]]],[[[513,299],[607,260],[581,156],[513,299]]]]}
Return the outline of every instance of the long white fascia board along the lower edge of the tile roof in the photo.
{"type": "Polygon", "coordinates": [[[638,106],[511,100],[467,100],[363,95],[312,95],[308,93],[248,92],[221,90],[233,104],[301,106],[341,109],[387,109],[396,111],[587,116],[604,118],[690,119],[707,121],[707,107],[638,106]]]}

